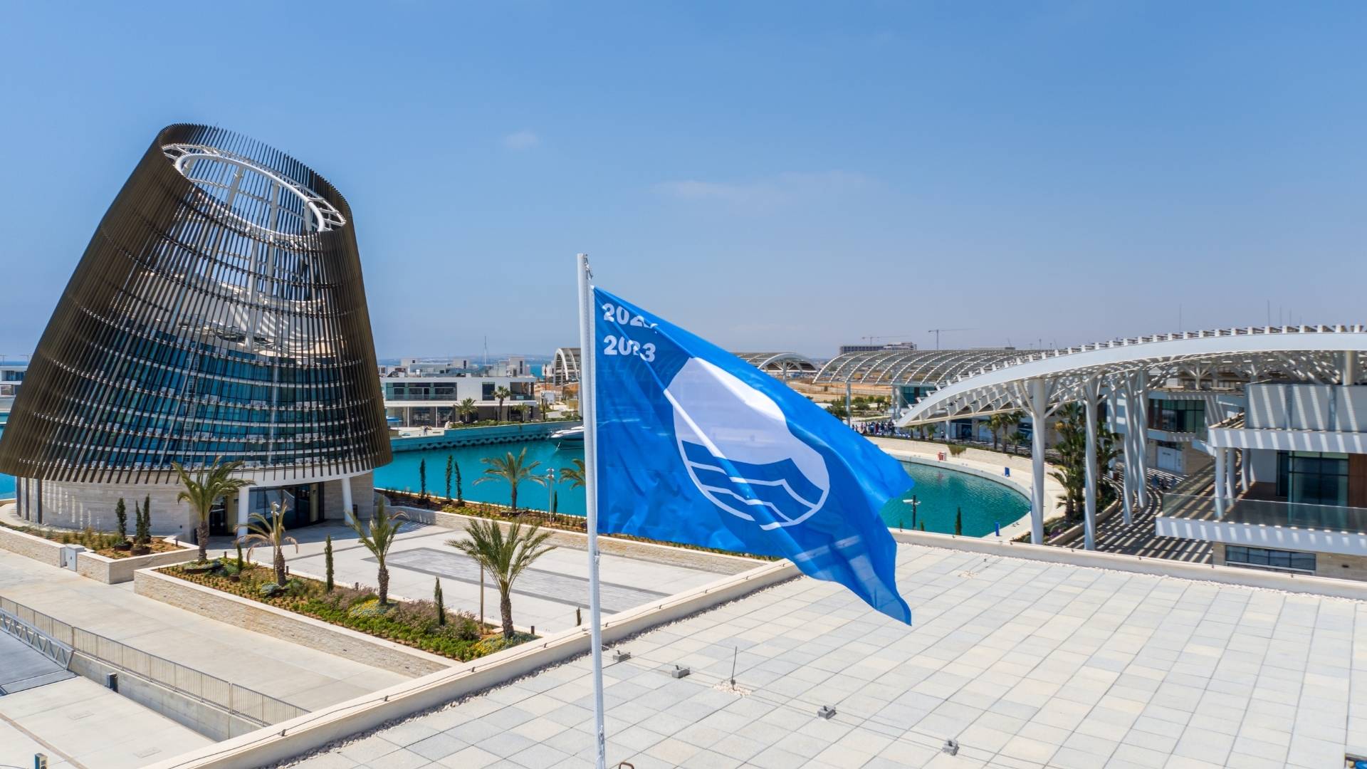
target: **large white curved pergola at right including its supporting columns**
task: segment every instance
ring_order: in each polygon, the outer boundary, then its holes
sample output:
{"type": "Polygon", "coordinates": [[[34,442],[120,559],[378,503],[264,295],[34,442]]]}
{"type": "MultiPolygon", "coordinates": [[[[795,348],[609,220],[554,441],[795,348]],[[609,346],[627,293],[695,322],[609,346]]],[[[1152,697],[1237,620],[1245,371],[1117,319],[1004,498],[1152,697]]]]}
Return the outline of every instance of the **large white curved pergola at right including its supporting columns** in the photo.
{"type": "MultiPolygon", "coordinates": [[[[1193,389],[1218,383],[1260,380],[1314,383],[1356,382],[1359,350],[1367,350],[1367,326],[1263,326],[1156,334],[1010,357],[984,356],[917,401],[898,426],[965,416],[1025,410],[1033,421],[1031,540],[1044,539],[1044,420],[1064,404],[1081,402],[1087,413],[1085,546],[1095,547],[1096,415],[1105,393],[1124,404],[1124,419],[1110,409],[1114,424],[1125,424],[1124,514],[1132,504],[1147,504],[1144,439],[1151,386],[1177,379],[1193,389]],[[972,371],[968,371],[972,369],[972,371]],[[1133,404],[1131,406],[1131,404],[1133,404]]],[[[997,352],[999,353],[999,352],[997,352]]],[[[833,361],[834,363],[834,361],[833,361]]],[[[1215,454],[1217,494],[1232,495],[1233,449],[1215,454]]]]}

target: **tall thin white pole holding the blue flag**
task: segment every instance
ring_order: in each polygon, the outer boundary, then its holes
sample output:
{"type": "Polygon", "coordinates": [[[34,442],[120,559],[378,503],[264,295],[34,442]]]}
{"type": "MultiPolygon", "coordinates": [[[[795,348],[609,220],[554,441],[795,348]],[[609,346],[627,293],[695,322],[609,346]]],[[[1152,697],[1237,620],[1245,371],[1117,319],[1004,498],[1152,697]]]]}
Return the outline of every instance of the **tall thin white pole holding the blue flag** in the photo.
{"type": "Polygon", "coordinates": [[[597,583],[597,393],[593,339],[593,291],[589,255],[578,256],[580,279],[580,416],[584,419],[584,508],[589,531],[589,643],[593,657],[593,724],[597,732],[597,769],[607,769],[603,733],[603,631],[597,583]]]}

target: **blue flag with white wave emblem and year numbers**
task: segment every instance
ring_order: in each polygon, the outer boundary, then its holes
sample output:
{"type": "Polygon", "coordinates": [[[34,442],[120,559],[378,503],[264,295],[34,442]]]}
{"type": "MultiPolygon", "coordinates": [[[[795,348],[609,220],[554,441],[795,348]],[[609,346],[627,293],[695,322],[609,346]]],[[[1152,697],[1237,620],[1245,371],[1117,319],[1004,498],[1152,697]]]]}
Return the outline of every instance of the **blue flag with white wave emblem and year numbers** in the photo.
{"type": "Polygon", "coordinates": [[[910,623],[879,517],[902,465],[716,345],[593,301],[599,531],[790,558],[910,623]]]}

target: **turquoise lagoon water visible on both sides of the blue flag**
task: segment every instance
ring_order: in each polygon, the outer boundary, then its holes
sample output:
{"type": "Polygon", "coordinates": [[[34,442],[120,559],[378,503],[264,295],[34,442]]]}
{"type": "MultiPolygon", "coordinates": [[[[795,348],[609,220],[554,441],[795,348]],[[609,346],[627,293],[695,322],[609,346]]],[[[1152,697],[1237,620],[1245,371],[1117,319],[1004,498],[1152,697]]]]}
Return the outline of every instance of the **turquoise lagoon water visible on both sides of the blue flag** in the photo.
{"type": "MultiPolygon", "coordinates": [[[[375,471],[375,484],[381,488],[398,488],[418,491],[418,464],[427,460],[428,491],[432,494],[446,494],[446,457],[450,454],[461,467],[465,479],[465,498],[476,502],[496,502],[507,505],[509,484],[503,480],[491,480],[476,484],[474,480],[484,472],[484,457],[502,457],[513,452],[517,454],[526,447],[529,461],[540,461],[536,468],[539,473],[547,468],[570,467],[570,460],[584,458],[584,450],[559,450],[550,441],[522,441],[517,443],[495,443],[491,446],[468,446],[463,449],[428,449],[421,452],[394,452],[394,461],[375,471]]],[[[1003,527],[1029,512],[1029,501],[1017,491],[994,483],[976,475],[956,472],[934,465],[902,462],[906,472],[916,480],[916,487],[904,494],[905,498],[916,495],[916,521],[925,521],[925,531],[940,534],[954,532],[954,510],[964,510],[964,534],[968,536],[982,536],[991,534],[994,524],[1003,527]]],[[[567,514],[584,514],[584,490],[570,488],[567,483],[559,486],[559,512],[567,514]]],[[[454,493],[454,491],[452,491],[454,493]]],[[[518,487],[518,506],[545,510],[547,490],[541,484],[524,483],[518,487]]],[[[912,505],[901,499],[891,499],[882,510],[883,521],[889,527],[901,524],[912,528],[912,505]]]]}

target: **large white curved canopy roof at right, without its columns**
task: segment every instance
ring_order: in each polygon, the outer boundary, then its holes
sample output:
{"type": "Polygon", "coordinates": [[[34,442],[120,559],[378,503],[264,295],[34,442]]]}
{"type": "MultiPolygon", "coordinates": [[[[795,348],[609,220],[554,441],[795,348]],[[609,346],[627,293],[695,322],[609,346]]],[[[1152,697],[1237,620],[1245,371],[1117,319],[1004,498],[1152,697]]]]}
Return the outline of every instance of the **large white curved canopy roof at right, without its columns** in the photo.
{"type": "Polygon", "coordinates": [[[1360,350],[1367,350],[1367,326],[1217,328],[1016,353],[946,382],[898,424],[1025,409],[1033,380],[1046,384],[1047,410],[1081,400],[1088,386],[1120,387],[1140,374],[1154,383],[1191,378],[1197,387],[1206,378],[1338,383],[1342,353],[1360,350]]]}

